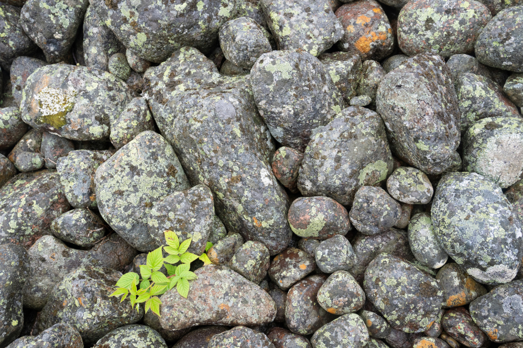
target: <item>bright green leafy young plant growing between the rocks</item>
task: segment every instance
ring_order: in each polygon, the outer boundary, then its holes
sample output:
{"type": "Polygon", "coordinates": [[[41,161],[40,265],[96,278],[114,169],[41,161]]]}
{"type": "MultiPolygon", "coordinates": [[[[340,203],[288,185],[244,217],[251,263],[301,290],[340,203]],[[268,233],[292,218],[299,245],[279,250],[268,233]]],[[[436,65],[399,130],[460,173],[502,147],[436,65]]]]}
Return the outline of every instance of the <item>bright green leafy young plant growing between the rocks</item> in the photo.
{"type": "MultiPolygon", "coordinates": [[[[178,236],[173,231],[164,231],[166,247],[160,247],[147,254],[147,262],[140,265],[140,275],[129,272],[120,277],[116,283],[116,291],[109,296],[122,296],[120,302],[129,295],[131,306],[136,305],[139,310],[139,304],[145,302],[145,312],[149,309],[154,314],[160,316],[160,305],[162,301],[158,295],[163,295],[167,290],[176,286],[178,293],[187,298],[189,294],[189,281],[197,279],[195,273],[189,271],[190,263],[196,259],[203,261],[204,265],[212,262],[206,253],[201,256],[187,252],[192,241],[191,238],[180,243],[178,236]],[[168,253],[166,258],[163,257],[162,249],[168,253]],[[175,265],[178,264],[178,265],[175,265]],[[165,266],[168,276],[165,276],[160,269],[165,266]]],[[[212,247],[211,242],[207,242],[205,251],[212,247]]]]}

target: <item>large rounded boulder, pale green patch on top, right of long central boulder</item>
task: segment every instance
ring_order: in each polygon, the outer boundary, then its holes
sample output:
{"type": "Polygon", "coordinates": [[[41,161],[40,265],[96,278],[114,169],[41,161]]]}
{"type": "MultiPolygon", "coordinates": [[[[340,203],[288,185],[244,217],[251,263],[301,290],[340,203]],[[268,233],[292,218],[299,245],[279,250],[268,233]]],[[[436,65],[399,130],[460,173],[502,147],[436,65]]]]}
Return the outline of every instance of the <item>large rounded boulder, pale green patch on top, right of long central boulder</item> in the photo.
{"type": "Polygon", "coordinates": [[[300,151],[344,107],[326,68],[306,52],[261,55],[251,69],[251,86],[272,136],[283,146],[300,151]]]}

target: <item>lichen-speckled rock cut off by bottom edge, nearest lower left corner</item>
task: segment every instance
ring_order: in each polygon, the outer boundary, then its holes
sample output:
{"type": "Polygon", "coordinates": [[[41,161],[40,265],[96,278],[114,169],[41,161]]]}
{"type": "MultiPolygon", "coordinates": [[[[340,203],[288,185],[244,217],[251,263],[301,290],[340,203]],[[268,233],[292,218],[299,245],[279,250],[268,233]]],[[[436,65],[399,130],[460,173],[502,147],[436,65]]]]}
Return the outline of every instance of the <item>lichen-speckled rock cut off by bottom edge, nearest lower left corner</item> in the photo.
{"type": "Polygon", "coordinates": [[[66,323],[54,324],[36,337],[24,336],[9,344],[7,348],[84,348],[82,336],[66,323]]]}

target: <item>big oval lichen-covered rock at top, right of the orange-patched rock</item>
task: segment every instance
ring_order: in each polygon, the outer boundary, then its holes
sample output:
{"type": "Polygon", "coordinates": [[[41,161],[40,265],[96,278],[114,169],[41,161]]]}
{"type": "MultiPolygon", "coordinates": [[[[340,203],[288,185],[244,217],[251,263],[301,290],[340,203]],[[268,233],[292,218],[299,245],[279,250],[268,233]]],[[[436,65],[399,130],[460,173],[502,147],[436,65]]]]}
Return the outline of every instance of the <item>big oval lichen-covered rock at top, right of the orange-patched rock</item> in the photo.
{"type": "Polygon", "coordinates": [[[471,53],[491,18],[490,10],[474,0],[415,0],[397,19],[397,41],[411,56],[431,51],[443,57],[471,53]]]}

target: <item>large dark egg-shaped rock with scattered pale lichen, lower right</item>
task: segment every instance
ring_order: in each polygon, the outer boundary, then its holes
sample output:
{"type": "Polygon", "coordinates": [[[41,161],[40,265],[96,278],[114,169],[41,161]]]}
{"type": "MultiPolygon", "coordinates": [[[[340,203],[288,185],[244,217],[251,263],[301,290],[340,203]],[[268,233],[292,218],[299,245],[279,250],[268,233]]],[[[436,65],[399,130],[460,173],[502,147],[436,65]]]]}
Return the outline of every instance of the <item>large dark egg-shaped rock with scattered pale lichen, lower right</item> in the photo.
{"type": "Polygon", "coordinates": [[[425,331],[444,303],[438,281],[391,254],[369,264],[363,289],[394,329],[408,333],[425,331]]]}

